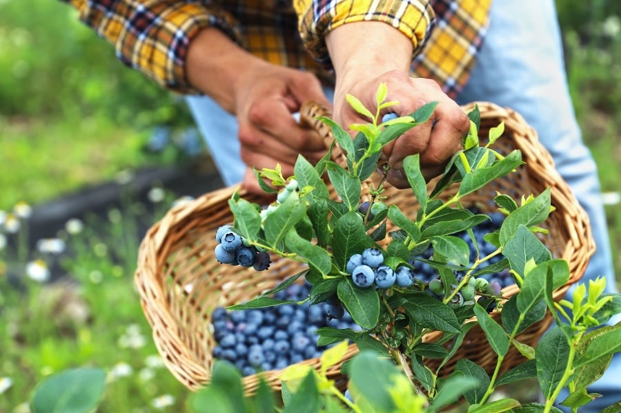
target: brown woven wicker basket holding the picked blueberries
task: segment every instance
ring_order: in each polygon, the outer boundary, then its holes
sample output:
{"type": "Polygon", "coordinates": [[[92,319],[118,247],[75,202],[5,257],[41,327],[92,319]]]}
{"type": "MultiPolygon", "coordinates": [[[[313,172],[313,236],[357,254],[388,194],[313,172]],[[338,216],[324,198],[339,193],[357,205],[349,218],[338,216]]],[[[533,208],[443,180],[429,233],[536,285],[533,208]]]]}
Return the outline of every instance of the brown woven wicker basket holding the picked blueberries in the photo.
{"type": "MultiPolygon", "coordinates": [[[[490,128],[504,121],[505,134],[495,143],[495,148],[501,152],[520,149],[526,164],[509,177],[496,180],[471,194],[466,205],[489,212],[493,208],[496,191],[520,197],[552,188],[551,202],[556,210],[544,223],[549,234],[543,236],[542,241],[553,256],[568,261],[571,274],[569,282],[555,291],[554,296],[558,300],[569,285],[580,279],[595,250],[588,218],[556,172],[549,153],[539,143],[535,131],[524,119],[512,110],[491,103],[480,102],[478,105],[481,112],[480,136],[486,137],[490,128]]],[[[467,105],[464,111],[469,112],[472,108],[473,104],[467,105]]],[[[326,114],[318,105],[306,105],[302,110],[303,120],[310,122],[326,139],[332,139],[330,130],[323,123],[313,120],[318,114],[326,114]]],[[[340,156],[342,161],[342,154],[336,156],[340,156]]],[[[428,189],[431,190],[432,185],[433,182],[428,189]]],[[[215,361],[211,353],[215,346],[210,320],[212,310],[217,306],[251,299],[303,269],[301,264],[279,256],[272,257],[270,269],[264,272],[217,263],[213,256],[215,230],[219,225],[233,222],[228,199],[236,189],[239,188],[223,188],[172,208],[164,219],[148,230],[139,250],[135,282],[142,308],[152,326],[153,339],[170,372],[190,390],[208,383],[215,361]]],[[[262,201],[244,190],[239,190],[239,194],[251,202],[262,201]]],[[[388,186],[385,194],[387,203],[395,203],[402,211],[415,214],[417,201],[411,190],[396,190],[388,186]]],[[[509,286],[503,292],[504,296],[512,296],[517,292],[517,286],[509,286]]],[[[500,312],[492,315],[500,321],[500,312]]],[[[517,339],[535,345],[551,322],[552,317],[548,314],[517,339]]],[[[439,333],[431,333],[426,340],[433,341],[439,336],[439,333]]],[[[351,345],[342,361],[350,359],[356,352],[357,347],[351,345]]],[[[480,328],[470,330],[453,361],[443,367],[442,374],[449,374],[457,360],[462,358],[482,365],[489,372],[493,370],[496,356],[480,328]]],[[[504,365],[508,369],[522,361],[522,356],[512,347],[504,365]]],[[[319,367],[319,359],[302,363],[319,367]]],[[[345,378],[340,372],[340,364],[328,369],[328,376],[343,387],[345,378]]],[[[281,386],[279,373],[276,370],[262,373],[274,390],[279,390],[281,386]]],[[[244,378],[248,394],[253,394],[258,384],[259,376],[256,374],[244,378]]]]}

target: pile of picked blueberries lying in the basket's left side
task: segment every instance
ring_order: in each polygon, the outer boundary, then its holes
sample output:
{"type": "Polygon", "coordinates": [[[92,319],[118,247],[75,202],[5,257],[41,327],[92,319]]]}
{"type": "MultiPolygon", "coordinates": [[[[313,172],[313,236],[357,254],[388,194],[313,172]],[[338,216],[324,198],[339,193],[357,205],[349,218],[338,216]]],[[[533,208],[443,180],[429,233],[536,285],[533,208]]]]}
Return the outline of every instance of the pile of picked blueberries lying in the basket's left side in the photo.
{"type": "MultiPolygon", "coordinates": [[[[302,301],[311,286],[292,284],[275,294],[275,299],[302,301]]],[[[326,347],[317,347],[318,328],[330,326],[359,331],[351,316],[343,310],[340,317],[329,316],[330,305],[308,302],[282,304],[276,307],[227,311],[216,308],[212,313],[217,345],[213,356],[235,364],[244,376],[321,356],[326,347]],[[339,318],[338,321],[331,321],[339,318]]]]}

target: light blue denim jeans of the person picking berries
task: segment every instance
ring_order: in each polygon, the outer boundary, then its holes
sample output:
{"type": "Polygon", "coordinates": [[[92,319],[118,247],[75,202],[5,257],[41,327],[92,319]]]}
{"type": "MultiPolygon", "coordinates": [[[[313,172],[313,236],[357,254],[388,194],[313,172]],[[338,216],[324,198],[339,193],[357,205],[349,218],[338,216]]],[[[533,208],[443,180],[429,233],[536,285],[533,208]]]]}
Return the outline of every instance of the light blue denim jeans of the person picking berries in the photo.
{"type": "MultiPolygon", "coordinates": [[[[331,97],[331,91],[326,90],[326,94],[331,97]]],[[[238,183],[245,166],[239,157],[235,117],[207,97],[188,97],[187,101],[224,183],[238,183]]],[[[607,291],[616,292],[597,168],[582,142],[569,97],[553,0],[493,3],[484,46],[457,101],[491,101],[509,107],[535,128],[556,168],[589,215],[597,250],[583,281],[605,276],[607,291]]],[[[589,390],[606,397],[580,412],[600,412],[621,398],[619,354],[607,374],[589,390]]]]}

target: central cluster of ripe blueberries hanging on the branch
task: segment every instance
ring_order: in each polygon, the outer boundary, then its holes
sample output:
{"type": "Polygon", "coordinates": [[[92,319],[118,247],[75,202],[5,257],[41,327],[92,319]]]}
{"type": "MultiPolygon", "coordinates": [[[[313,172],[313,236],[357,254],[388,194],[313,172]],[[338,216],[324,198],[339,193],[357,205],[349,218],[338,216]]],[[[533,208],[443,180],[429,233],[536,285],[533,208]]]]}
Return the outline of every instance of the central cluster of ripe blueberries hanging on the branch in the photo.
{"type": "Polygon", "coordinates": [[[346,270],[358,287],[371,287],[373,283],[378,288],[409,287],[414,282],[414,273],[407,265],[399,265],[393,270],[384,264],[384,254],[378,248],[365,248],[362,254],[353,254],[349,257],[346,270]]]}

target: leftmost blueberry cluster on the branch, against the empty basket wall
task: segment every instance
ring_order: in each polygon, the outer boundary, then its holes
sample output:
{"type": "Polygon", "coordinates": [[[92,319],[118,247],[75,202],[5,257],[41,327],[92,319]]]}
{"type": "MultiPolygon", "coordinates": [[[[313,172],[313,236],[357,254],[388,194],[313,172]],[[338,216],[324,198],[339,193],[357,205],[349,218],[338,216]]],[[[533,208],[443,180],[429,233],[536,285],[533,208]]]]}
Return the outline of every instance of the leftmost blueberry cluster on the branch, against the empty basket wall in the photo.
{"type": "Polygon", "coordinates": [[[216,232],[215,257],[221,264],[242,265],[253,267],[257,271],[267,270],[270,266],[270,255],[259,252],[253,245],[248,245],[233,231],[231,225],[222,225],[216,232]]]}

